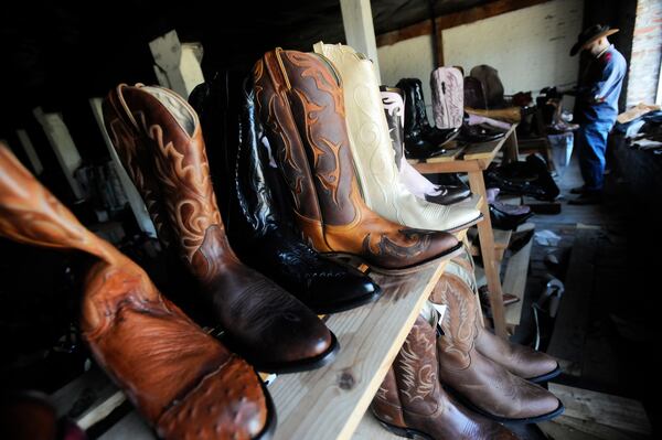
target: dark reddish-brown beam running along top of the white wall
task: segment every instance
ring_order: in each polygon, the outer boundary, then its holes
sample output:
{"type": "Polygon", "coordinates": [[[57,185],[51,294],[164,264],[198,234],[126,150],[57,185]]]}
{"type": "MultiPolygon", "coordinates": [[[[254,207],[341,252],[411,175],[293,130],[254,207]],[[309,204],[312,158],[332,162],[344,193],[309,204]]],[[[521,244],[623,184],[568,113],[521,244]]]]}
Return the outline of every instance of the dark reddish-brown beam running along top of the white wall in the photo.
{"type": "MultiPolygon", "coordinates": [[[[490,17],[500,15],[502,13],[516,11],[519,9],[528,8],[535,4],[545,3],[549,0],[498,0],[487,4],[480,4],[465,11],[453,12],[446,15],[437,17],[435,23],[437,33],[440,35],[445,29],[459,26],[462,24],[473,23],[479,20],[489,19],[490,17]]],[[[430,20],[425,20],[407,28],[396,31],[386,32],[377,35],[377,46],[386,46],[395,44],[398,41],[413,39],[420,35],[430,35],[433,33],[433,24],[430,20]]],[[[439,43],[441,40],[439,39],[439,43]]],[[[442,44],[441,44],[442,46],[442,44]]],[[[442,57],[439,57],[439,62],[442,57]]]]}

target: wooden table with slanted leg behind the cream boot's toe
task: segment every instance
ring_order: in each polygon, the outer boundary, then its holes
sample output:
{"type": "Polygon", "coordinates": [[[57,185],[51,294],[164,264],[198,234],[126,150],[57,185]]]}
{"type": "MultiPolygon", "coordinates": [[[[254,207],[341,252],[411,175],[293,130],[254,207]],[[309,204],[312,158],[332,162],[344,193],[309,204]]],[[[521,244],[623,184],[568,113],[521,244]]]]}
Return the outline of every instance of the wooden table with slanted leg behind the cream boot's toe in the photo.
{"type": "Polygon", "coordinates": [[[468,173],[471,192],[481,196],[483,203],[480,204],[480,211],[483,214],[483,221],[477,225],[480,250],[490,290],[490,307],[494,319],[494,330],[502,337],[508,337],[508,331],[503,308],[503,291],[499,276],[501,261],[495,255],[495,253],[500,251],[500,248],[494,244],[494,232],[492,230],[492,222],[490,221],[490,207],[487,203],[483,171],[487,170],[502,149],[504,161],[517,160],[516,127],[517,125],[513,124],[505,136],[495,141],[474,143],[465,148],[448,150],[447,153],[440,157],[424,161],[409,161],[423,174],[468,173]]]}

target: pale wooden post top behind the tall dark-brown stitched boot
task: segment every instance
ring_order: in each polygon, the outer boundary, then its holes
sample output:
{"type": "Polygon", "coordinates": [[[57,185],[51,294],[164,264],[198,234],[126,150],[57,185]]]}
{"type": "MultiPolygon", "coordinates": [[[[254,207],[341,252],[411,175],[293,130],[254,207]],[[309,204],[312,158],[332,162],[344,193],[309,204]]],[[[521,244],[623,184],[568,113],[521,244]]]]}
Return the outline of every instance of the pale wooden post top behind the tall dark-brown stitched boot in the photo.
{"type": "Polygon", "coordinates": [[[202,45],[200,43],[181,44],[177,31],[152,40],[149,49],[154,57],[154,73],[159,84],[180,94],[184,99],[193,88],[204,83],[200,67],[202,45]]]}

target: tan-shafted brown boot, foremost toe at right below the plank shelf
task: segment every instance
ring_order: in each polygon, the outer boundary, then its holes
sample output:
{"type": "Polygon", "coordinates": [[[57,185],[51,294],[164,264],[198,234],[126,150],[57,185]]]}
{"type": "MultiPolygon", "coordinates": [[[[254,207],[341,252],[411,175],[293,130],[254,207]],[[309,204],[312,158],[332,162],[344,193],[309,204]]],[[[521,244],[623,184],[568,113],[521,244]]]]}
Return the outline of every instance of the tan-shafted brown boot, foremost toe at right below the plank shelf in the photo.
{"type": "Polygon", "coordinates": [[[437,342],[439,377],[460,401],[498,421],[536,422],[563,412],[553,394],[476,350],[479,310],[460,277],[444,273],[430,297],[448,307],[437,342]]]}

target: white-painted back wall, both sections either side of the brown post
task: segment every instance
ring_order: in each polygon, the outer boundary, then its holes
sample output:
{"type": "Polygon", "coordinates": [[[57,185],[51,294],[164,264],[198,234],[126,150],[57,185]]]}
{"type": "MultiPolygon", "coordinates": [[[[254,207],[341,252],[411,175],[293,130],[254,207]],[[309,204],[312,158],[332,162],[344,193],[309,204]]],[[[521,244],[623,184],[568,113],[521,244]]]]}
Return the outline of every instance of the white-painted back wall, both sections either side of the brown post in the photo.
{"type": "MultiPolygon", "coordinates": [[[[583,9],[584,0],[553,0],[444,30],[445,64],[462,66],[467,75],[471,67],[489,64],[499,71],[506,94],[535,95],[545,86],[574,84],[579,64],[569,52],[581,32],[583,9]]],[[[431,117],[431,36],[382,46],[378,56],[384,84],[412,76],[423,82],[431,117]]]]}

